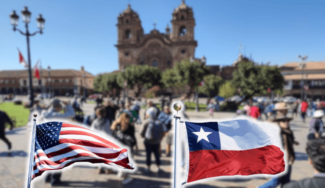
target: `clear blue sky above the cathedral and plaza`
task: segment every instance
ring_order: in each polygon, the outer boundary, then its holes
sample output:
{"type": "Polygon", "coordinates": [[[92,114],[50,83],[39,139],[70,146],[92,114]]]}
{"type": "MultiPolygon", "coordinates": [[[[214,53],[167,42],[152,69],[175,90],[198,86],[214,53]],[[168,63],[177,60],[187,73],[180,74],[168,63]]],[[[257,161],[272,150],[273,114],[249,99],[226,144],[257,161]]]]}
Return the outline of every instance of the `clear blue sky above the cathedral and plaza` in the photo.
{"type": "MultiPolygon", "coordinates": [[[[21,10],[31,12],[29,31],[38,30],[39,14],[46,20],[44,33],[30,37],[31,64],[41,59],[52,69],[80,69],[96,75],[118,69],[117,16],[127,4],[138,12],[145,33],[171,27],[172,12],[181,1],[0,1],[0,70],[23,69],[17,47],[27,61],[26,37],[12,30],[9,15],[16,10],[17,28],[25,31],[21,10]]],[[[193,8],[198,41],[195,56],[207,65],[231,65],[239,46],[255,62],[281,65],[325,61],[324,1],[185,1],[193,8]]]]}

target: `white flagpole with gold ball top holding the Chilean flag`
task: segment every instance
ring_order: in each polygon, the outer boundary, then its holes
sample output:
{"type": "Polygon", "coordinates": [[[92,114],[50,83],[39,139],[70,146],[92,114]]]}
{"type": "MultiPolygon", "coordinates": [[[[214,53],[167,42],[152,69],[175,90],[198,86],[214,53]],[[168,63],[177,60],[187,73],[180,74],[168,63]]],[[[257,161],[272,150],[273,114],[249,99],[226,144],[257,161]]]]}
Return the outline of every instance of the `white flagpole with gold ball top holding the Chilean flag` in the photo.
{"type": "Polygon", "coordinates": [[[181,149],[179,147],[180,143],[180,131],[179,131],[179,122],[181,119],[181,116],[178,114],[178,111],[182,108],[180,103],[174,104],[174,109],[177,111],[177,114],[174,116],[175,118],[175,150],[174,150],[174,188],[181,187],[182,184],[180,183],[180,170],[179,166],[181,164],[180,155],[181,155],[181,149]]]}

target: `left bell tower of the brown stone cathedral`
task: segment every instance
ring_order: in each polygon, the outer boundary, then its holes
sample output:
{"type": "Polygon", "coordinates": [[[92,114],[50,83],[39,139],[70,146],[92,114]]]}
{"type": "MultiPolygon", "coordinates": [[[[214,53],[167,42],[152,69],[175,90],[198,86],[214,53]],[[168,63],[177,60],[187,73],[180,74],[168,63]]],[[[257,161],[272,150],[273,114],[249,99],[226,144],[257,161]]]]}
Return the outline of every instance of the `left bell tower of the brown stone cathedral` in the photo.
{"type": "Polygon", "coordinates": [[[139,15],[131,9],[131,5],[127,5],[117,20],[118,45],[136,44],[143,36],[143,28],[139,15]]]}

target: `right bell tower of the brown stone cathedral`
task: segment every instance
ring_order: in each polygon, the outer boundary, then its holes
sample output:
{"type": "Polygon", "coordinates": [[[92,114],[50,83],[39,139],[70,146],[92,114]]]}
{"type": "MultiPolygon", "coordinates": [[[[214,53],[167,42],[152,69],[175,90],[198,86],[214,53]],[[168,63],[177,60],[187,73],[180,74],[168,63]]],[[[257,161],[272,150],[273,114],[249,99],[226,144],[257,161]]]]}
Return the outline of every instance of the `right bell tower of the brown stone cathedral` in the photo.
{"type": "Polygon", "coordinates": [[[185,1],[182,1],[173,14],[171,40],[176,41],[193,41],[195,20],[193,10],[187,7],[185,1]]]}

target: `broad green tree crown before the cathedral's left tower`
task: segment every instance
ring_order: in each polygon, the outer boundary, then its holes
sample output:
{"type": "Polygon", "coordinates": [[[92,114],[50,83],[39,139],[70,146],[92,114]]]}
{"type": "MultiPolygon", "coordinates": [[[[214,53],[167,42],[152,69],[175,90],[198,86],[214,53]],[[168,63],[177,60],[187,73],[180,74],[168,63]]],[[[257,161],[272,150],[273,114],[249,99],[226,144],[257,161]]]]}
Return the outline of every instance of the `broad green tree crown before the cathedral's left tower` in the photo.
{"type": "Polygon", "coordinates": [[[124,72],[117,74],[117,83],[120,87],[127,81],[128,88],[135,88],[136,96],[141,94],[142,88],[152,88],[155,85],[160,86],[161,72],[157,67],[148,65],[128,65],[124,72]]]}

